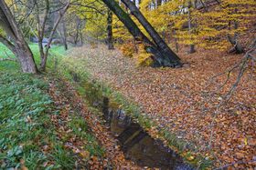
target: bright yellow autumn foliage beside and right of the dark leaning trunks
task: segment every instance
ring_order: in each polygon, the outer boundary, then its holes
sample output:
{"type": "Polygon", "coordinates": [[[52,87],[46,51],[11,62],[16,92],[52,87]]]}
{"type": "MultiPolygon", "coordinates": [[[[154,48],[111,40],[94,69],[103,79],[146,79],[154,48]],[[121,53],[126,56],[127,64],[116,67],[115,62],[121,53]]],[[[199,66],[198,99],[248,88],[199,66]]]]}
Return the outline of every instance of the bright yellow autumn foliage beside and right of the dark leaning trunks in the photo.
{"type": "MultiPolygon", "coordinates": [[[[139,7],[160,35],[172,35],[172,31],[176,30],[176,35],[172,37],[176,37],[178,44],[194,44],[219,50],[229,48],[226,38],[228,34],[244,34],[248,30],[248,24],[256,17],[255,0],[223,0],[220,5],[208,6],[207,12],[196,9],[193,3],[188,9],[188,2],[189,0],[172,0],[156,6],[153,0],[142,0],[139,7]],[[189,17],[192,25],[190,29],[189,17]],[[239,25],[237,29],[234,28],[235,23],[239,25]]],[[[138,24],[136,19],[133,20],[138,24]]],[[[115,21],[118,26],[114,28],[114,36],[124,41],[131,40],[132,37],[124,26],[115,21]]],[[[144,32],[143,28],[142,30],[144,32]]],[[[145,32],[144,34],[147,35],[145,32]]]]}

